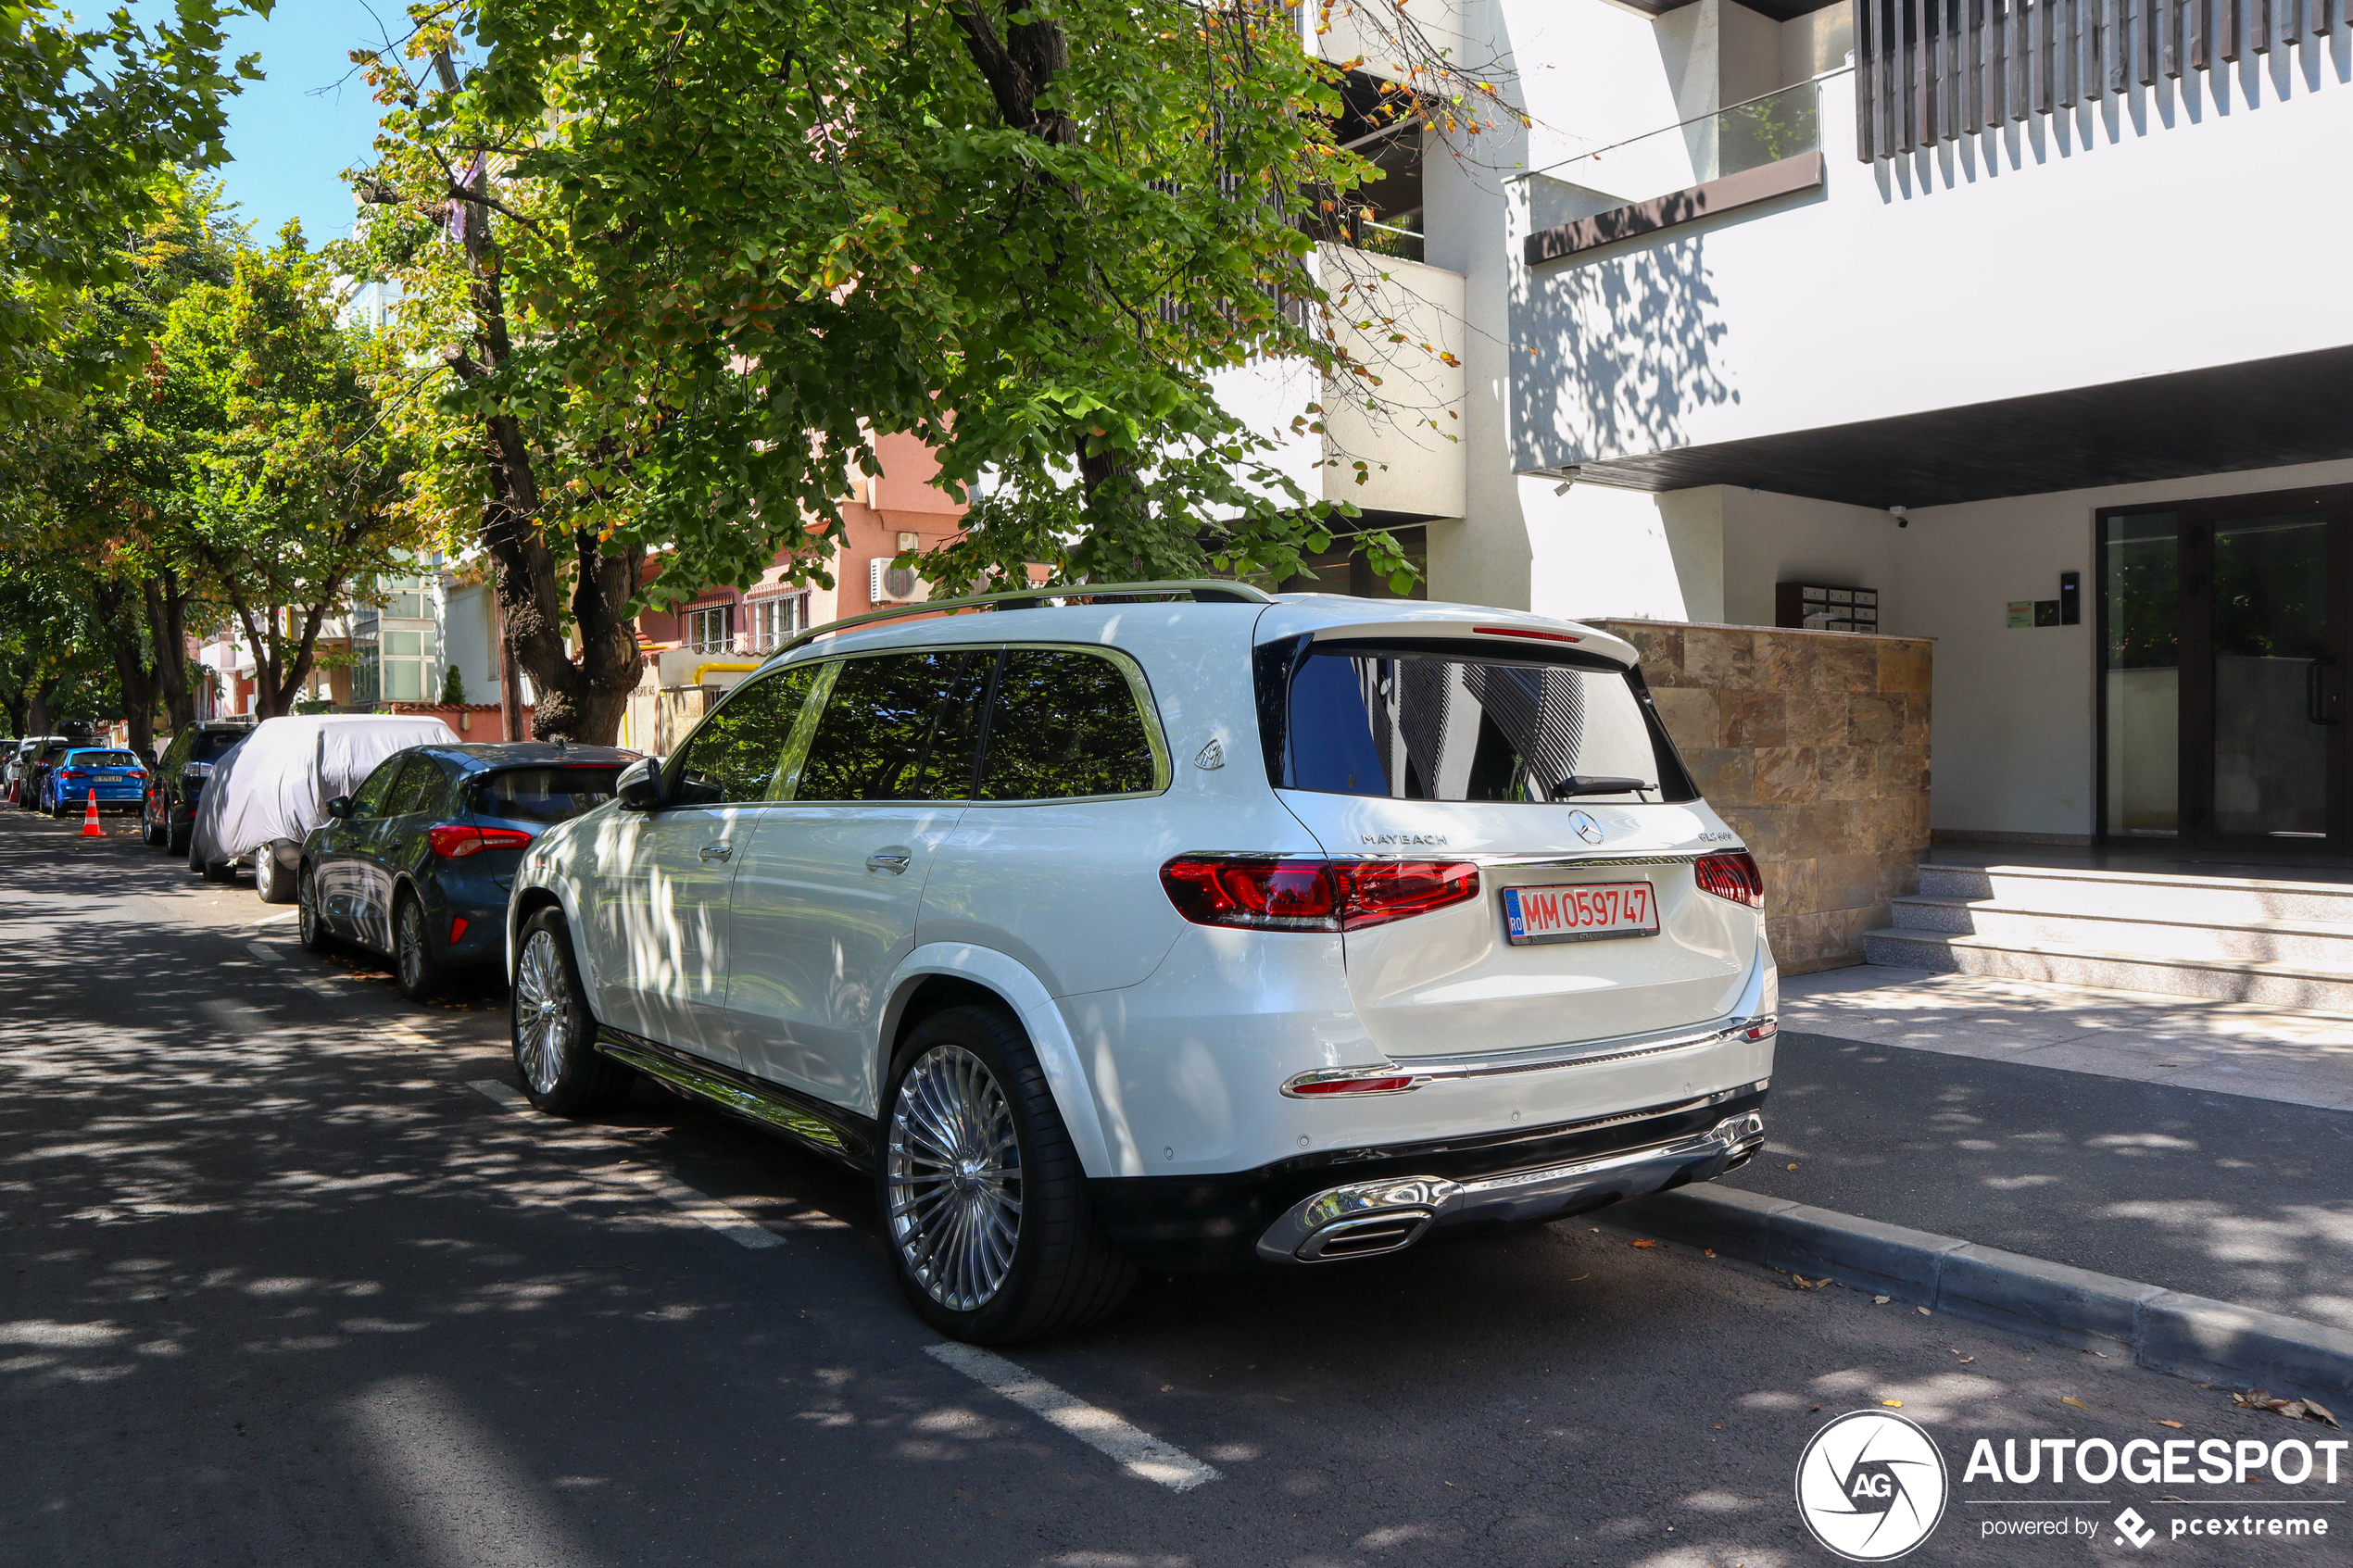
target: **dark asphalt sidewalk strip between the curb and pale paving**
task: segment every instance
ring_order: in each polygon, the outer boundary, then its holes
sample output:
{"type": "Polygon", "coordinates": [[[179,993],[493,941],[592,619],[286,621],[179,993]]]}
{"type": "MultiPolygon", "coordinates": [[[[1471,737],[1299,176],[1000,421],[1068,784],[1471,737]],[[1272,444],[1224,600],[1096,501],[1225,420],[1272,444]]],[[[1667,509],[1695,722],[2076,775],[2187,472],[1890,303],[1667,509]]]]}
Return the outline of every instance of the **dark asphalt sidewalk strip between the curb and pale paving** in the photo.
{"type": "Polygon", "coordinates": [[[1732,1185],[2353,1328],[2353,1112],[1791,1032],[1765,1121],[1732,1185]]]}

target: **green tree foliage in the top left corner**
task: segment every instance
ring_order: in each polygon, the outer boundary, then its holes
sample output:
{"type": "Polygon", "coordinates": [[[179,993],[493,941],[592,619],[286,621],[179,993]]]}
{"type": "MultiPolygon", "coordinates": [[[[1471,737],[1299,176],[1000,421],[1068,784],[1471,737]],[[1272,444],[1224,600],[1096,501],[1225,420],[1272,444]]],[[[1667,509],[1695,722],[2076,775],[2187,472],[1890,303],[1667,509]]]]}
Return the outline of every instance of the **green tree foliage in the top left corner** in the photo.
{"type": "Polygon", "coordinates": [[[136,364],[136,341],[75,336],[66,317],[127,277],[122,235],[169,207],[167,169],[226,160],[226,99],[259,78],[252,56],[221,68],[221,19],[240,9],[271,0],[172,0],[169,21],[99,26],[24,0],[0,21],[0,425],[136,364]]]}

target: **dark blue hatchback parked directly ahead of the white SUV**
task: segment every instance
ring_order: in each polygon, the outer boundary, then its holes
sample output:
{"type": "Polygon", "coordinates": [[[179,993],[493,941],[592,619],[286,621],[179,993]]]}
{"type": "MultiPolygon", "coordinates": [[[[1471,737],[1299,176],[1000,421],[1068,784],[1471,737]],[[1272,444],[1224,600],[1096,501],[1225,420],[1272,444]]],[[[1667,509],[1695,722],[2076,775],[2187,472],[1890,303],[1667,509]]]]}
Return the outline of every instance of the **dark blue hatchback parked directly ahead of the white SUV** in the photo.
{"type": "Polygon", "coordinates": [[[515,865],[548,825],[612,799],[638,752],[605,745],[416,745],[327,802],[301,846],[301,945],[391,954],[407,997],[506,957],[515,865]]]}

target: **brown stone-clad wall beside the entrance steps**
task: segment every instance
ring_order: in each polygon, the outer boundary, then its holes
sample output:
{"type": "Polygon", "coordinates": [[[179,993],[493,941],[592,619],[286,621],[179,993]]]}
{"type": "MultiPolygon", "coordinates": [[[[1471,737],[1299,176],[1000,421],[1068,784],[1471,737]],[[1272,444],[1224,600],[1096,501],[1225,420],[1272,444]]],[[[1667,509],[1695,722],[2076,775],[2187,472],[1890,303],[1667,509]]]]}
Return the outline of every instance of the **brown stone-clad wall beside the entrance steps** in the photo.
{"type": "Polygon", "coordinates": [[[1784,973],[1859,964],[1927,856],[1927,637],[1595,621],[1765,867],[1784,973]]]}

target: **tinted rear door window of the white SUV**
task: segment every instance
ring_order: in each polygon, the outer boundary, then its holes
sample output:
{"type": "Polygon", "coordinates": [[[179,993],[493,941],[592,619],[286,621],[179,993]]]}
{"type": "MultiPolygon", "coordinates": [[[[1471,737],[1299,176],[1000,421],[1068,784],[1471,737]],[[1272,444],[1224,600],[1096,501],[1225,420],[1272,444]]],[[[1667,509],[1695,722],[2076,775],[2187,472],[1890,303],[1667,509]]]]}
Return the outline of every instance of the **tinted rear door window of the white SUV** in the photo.
{"type": "Polygon", "coordinates": [[[988,654],[849,658],[793,799],[969,799],[988,654]]]}

